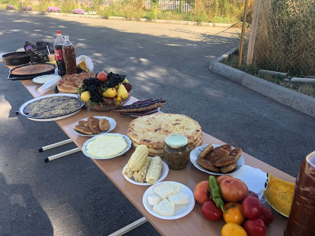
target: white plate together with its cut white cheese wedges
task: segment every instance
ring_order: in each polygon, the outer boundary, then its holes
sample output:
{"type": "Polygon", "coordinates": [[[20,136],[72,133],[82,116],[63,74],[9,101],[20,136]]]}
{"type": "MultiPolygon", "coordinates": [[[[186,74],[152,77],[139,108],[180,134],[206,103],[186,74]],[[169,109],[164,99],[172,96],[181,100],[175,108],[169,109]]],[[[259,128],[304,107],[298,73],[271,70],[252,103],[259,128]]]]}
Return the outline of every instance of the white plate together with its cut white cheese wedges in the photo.
{"type": "Polygon", "coordinates": [[[192,190],[174,181],[153,184],[146,190],[142,200],[150,214],[165,220],[184,217],[195,206],[192,190]]]}

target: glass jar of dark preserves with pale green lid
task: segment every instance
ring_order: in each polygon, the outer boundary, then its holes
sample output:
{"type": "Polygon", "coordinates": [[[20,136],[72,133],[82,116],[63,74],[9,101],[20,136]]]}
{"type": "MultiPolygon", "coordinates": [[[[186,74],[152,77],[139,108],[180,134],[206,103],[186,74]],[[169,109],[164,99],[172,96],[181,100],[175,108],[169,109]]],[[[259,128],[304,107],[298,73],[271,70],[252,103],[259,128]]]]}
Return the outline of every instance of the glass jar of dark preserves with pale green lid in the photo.
{"type": "Polygon", "coordinates": [[[172,170],[184,169],[189,161],[188,138],[183,135],[170,135],[165,139],[163,160],[172,170]]]}

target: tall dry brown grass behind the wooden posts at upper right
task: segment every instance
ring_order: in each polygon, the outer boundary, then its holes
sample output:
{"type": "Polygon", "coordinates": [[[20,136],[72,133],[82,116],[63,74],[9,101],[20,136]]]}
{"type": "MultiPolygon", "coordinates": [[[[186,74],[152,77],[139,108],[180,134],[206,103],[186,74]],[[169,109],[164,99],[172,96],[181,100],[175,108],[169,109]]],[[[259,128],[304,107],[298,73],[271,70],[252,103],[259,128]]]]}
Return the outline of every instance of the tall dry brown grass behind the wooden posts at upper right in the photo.
{"type": "MultiPolygon", "coordinates": [[[[263,5],[254,49],[255,67],[293,76],[315,75],[315,0],[274,0],[266,17],[263,5]]],[[[245,45],[243,59],[246,52],[245,45]]]]}

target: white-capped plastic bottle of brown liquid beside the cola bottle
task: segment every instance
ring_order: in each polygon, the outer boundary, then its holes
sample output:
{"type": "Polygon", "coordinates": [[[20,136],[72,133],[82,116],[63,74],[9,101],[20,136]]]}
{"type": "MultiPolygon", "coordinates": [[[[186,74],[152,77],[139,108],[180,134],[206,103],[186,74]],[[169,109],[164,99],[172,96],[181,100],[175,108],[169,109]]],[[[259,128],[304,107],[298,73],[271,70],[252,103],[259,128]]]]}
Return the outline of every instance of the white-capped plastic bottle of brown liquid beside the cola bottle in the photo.
{"type": "Polygon", "coordinates": [[[66,74],[77,74],[77,61],[74,46],[69,41],[69,36],[65,35],[65,43],[62,45],[62,54],[65,61],[66,74]]]}

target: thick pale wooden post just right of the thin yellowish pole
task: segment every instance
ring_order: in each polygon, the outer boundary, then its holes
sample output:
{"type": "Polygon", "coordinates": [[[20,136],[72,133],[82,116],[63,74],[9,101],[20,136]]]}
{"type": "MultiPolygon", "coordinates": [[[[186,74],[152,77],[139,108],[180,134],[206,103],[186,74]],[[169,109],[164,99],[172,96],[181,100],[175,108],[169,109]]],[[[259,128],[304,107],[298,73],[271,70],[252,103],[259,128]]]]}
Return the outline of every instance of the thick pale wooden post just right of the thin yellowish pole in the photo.
{"type": "Polygon", "coordinates": [[[246,63],[249,65],[253,63],[254,46],[255,46],[255,40],[256,40],[256,35],[257,35],[260,6],[261,6],[261,0],[255,0],[254,10],[253,10],[253,20],[252,20],[252,25],[250,26],[247,59],[246,59],[246,63]]]}

